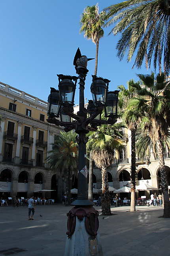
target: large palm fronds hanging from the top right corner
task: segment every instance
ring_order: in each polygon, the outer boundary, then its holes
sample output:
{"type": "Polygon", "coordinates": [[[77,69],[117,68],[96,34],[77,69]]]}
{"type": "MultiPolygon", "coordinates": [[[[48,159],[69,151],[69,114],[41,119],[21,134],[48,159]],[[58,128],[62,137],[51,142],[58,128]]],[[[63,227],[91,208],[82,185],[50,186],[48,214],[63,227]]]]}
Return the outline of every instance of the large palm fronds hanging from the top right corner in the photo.
{"type": "MultiPolygon", "coordinates": [[[[111,33],[121,33],[117,42],[117,56],[122,60],[128,51],[128,62],[136,55],[134,65],[141,67],[159,66],[163,58],[164,72],[170,70],[170,1],[169,0],[127,0],[114,4],[107,11],[106,26],[115,23],[111,33]]],[[[133,65],[133,67],[134,67],[133,65]]]]}

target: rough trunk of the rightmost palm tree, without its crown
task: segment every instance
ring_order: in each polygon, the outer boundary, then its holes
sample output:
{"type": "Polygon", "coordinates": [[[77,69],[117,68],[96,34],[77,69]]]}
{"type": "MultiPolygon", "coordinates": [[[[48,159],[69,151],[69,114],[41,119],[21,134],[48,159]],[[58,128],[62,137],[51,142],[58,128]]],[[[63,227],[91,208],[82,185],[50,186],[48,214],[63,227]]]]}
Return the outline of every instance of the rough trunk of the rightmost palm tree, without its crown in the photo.
{"type": "Polygon", "coordinates": [[[159,158],[159,171],[161,173],[161,189],[164,195],[164,214],[163,217],[170,218],[170,201],[168,194],[168,181],[166,176],[165,162],[164,162],[164,153],[163,145],[161,140],[157,141],[157,154],[159,158]]]}

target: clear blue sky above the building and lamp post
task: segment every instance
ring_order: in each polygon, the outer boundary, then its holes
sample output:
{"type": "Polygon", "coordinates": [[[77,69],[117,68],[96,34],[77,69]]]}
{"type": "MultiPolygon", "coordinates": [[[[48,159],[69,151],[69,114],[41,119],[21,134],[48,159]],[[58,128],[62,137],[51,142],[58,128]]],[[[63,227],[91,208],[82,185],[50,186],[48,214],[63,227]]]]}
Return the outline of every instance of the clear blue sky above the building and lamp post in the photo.
{"type": "MultiPolygon", "coordinates": [[[[100,11],[121,2],[99,0],[100,11]]],[[[57,74],[75,75],[73,59],[79,47],[83,55],[95,58],[95,44],[79,34],[79,20],[86,6],[96,1],[85,0],[6,0],[1,1],[0,15],[0,81],[47,100],[50,87],[58,87],[57,74]]],[[[108,36],[105,29],[100,40],[98,76],[111,80],[110,90],[125,85],[129,79],[137,80],[136,73],[150,73],[145,69],[132,69],[126,57],[119,61],[115,45],[119,37],[108,36]]],[[[88,63],[89,73],[85,97],[91,98],[91,74],[95,61],[88,63]]],[[[75,104],[78,103],[78,87],[75,104]]]]}

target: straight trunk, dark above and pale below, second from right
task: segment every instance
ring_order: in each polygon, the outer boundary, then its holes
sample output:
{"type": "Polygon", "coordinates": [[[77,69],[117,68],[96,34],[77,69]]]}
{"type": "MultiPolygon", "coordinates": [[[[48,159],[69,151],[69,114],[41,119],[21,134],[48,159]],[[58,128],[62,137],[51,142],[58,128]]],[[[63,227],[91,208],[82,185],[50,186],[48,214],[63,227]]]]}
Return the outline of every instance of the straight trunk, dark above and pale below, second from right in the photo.
{"type": "Polygon", "coordinates": [[[136,198],[135,198],[135,187],[136,187],[136,129],[131,129],[131,171],[130,171],[130,182],[131,182],[131,200],[130,200],[130,212],[136,210],[136,198]]]}

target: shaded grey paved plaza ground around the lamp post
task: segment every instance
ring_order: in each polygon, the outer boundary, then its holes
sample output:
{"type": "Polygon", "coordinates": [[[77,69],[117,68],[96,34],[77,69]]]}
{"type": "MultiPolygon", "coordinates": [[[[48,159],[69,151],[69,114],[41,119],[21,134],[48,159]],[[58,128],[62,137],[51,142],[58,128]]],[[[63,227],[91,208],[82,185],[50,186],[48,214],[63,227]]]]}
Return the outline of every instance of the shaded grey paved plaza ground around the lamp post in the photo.
{"type": "MultiPolygon", "coordinates": [[[[28,208],[0,207],[0,251],[19,248],[26,251],[18,256],[63,256],[70,208],[36,206],[34,221],[28,221],[28,208]]],[[[95,208],[101,213],[101,207],[95,208]]],[[[162,208],[138,206],[135,213],[129,208],[113,207],[115,215],[99,216],[104,256],[170,256],[170,219],[158,218],[162,208]]]]}

